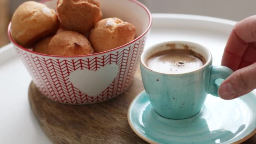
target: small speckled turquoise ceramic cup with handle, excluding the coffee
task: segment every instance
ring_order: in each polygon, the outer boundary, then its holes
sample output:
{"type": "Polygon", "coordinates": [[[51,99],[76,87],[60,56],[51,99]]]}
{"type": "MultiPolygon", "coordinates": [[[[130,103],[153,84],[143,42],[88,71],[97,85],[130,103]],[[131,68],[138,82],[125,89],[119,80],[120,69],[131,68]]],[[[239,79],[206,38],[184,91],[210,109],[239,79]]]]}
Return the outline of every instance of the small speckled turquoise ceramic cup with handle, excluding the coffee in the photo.
{"type": "Polygon", "coordinates": [[[218,96],[219,83],[216,83],[216,79],[226,79],[232,74],[228,67],[212,65],[212,55],[207,48],[188,41],[168,41],[147,48],[141,54],[140,67],[152,107],[159,115],[170,119],[196,115],[203,107],[208,93],[218,96]],[[195,71],[181,74],[164,74],[147,67],[146,61],[150,56],[171,48],[189,48],[201,54],[206,63],[195,71]]]}

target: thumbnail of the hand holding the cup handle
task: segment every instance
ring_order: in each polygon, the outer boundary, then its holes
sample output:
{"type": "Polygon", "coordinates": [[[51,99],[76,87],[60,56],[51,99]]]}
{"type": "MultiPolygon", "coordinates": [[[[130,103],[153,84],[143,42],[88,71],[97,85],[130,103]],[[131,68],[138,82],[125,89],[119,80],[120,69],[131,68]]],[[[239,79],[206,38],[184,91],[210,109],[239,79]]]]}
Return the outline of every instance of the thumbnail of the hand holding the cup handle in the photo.
{"type": "Polygon", "coordinates": [[[233,99],[237,95],[235,92],[235,88],[231,83],[224,83],[220,85],[218,94],[222,99],[227,100],[233,99]]]}

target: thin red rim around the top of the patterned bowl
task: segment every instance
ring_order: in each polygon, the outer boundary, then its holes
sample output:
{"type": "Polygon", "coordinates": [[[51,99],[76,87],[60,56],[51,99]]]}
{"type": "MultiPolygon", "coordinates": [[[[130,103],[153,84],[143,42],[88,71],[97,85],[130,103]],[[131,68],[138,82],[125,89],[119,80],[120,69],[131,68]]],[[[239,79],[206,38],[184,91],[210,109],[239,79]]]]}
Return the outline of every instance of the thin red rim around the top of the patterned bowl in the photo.
{"type": "MultiPolygon", "coordinates": [[[[48,1],[51,1],[51,0],[41,0],[40,3],[45,3],[45,2],[48,2],[48,1]]],[[[117,48],[114,48],[112,50],[109,50],[109,51],[104,51],[104,52],[100,52],[100,53],[93,53],[93,54],[88,54],[88,55],[81,55],[81,56],[54,56],[54,55],[48,55],[48,54],[42,54],[42,53],[37,53],[37,52],[34,52],[34,51],[30,51],[28,50],[27,48],[24,48],[22,47],[21,45],[19,45],[18,43],[16,43],[15,40],[13,40],[13,37],[11,36],[11,21],[9,23],[9,26],[8,26],[8,38],[11,40],[11,42],[13,44],[15,44],[17,47],[21,48],[22,50],[24,51],[27,51],[29,53],[34,53],[34,54],[37,54],[37,55],[42,55],[42,56],[49,56],[49,57],[58,57],[58,58],[77,58],[77,57],[87,57],[87,56],[95,56],[95,55],[100,55],[100,54],[103,54],[103,53],[108,53],[108,52],[111,52],[111,51],[115,51],[117,49],[120,49],[120,48],[123,48],[127,45],[130,45],[131,43],[139,40],[141,37],[143,37],[144,35],[147,34],[147,32],[149,31],[149,29],[151,28],[151,25],[152,25],[152,16],[150,14],[150,11],[149,9],[143,5],[142,3],[138,2],[137,0],[129,0],[133,3],[136,3],[137,5],[141,6],[142,8],[144,8],[144,10],[147,12],[148,16],[149,16],[149,25],[147,27],[147,29],[139,36],[137,37],[136,39],[134,39],[133,41],[131,41],[130,43],[127,43],[125,45],[122,45],[120,47],[117,47],[117,48]]]]}

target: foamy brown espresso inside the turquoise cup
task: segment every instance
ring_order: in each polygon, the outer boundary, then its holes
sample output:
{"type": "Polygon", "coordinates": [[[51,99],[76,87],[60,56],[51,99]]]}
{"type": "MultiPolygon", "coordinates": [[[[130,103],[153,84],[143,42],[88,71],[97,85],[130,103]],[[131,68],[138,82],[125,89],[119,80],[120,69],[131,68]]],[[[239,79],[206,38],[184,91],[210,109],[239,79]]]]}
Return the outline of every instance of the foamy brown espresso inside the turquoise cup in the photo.
{"type": "Polygon", "coordinates": [[[165,74],[182,74],[199,69],[205,64],[199,53],[187,49],[170,49],[153,54],[147,59],[147,67],[165,74]]]}

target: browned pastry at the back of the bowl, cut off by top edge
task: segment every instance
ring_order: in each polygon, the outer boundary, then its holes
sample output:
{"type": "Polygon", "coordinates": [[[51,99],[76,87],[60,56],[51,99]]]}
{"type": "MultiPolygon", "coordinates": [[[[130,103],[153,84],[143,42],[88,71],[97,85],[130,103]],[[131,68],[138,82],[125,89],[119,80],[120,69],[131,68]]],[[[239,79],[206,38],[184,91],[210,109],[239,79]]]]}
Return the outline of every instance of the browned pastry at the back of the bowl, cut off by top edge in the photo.
{"type": "Polygon", "coordinates": [[[57,13],[64,29],[86,34],[99,20],[99,0],[58,0],[57,13]]]}

